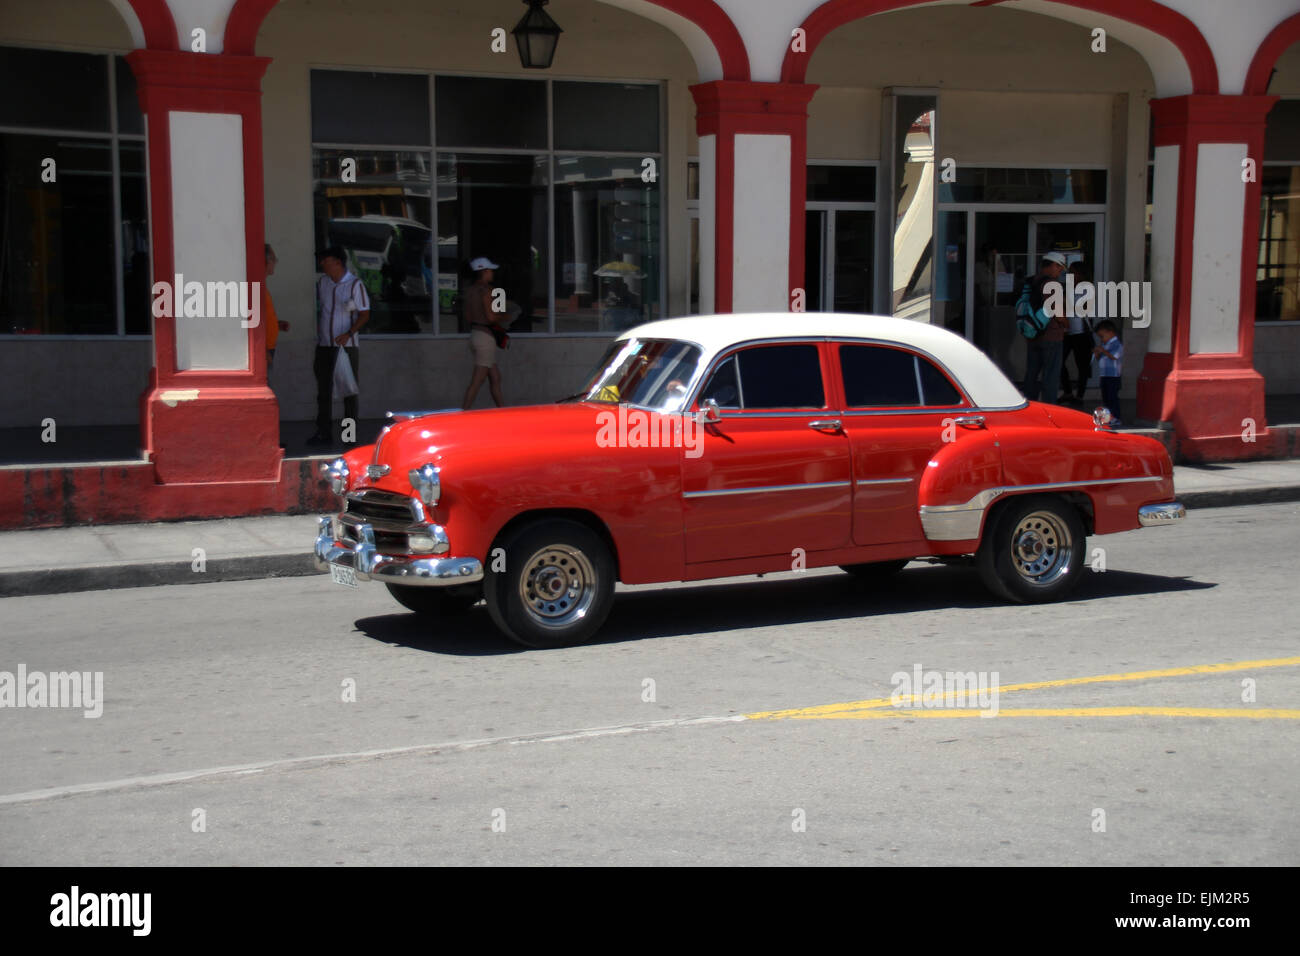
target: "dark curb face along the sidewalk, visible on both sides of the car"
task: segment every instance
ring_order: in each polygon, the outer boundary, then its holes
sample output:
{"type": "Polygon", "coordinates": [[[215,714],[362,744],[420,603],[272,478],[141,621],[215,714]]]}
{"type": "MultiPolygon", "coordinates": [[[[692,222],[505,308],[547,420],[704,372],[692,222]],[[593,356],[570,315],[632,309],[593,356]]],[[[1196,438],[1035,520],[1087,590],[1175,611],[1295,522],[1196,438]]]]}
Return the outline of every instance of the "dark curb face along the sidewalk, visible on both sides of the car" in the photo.
{"type": "MultiPolygon", "coordinates": [[[[1178,494],[1187,509],[1235,507],[1300,501],[1300,485],[1260,485],[1216,492],[1178,494]]],[[[303,578],[324,574],[309,550],[281,554],[250,554],[238,558],[208,558],[205,571],[194,571],[187,561],[155,561],[122,564],[83,564],[35,571],[0,571],[0,597],[69,594],[78,591],[153,588],[162,584],[211,584],[251,581],[266,578],[303,578]]]]}

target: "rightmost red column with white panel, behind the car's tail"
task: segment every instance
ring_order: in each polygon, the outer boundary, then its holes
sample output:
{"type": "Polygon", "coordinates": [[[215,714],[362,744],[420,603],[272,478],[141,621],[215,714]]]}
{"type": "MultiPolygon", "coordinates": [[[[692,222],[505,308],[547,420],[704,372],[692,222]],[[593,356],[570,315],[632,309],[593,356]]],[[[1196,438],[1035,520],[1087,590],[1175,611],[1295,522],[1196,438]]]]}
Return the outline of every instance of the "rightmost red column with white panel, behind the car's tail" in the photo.
{"type": "MultiPolygon", "coordinates": [[[[1173,211],[1174,274],[1170,297],[1171,336],[1167,351],[1148,351],[1138,380],[1138,415],[1174,425],[1179,454],[1192,460],[1261,457],[1268,447],[1264,377],[1254,369],[1254,281],[1260,245],[1258,166],[1264,160],[1265,117],[1277,96],[1190,95],[1152,100],[1154,146],[1176,146],[1178,193],[1173,211]],[[1192,351],[1192,281],[1197,241],[1205,242],[1217,222],[1196,221],[1200,147],[1244,144],[1256,176],[1244,194],[1238,334],[1232,350],[1192,351]],[[1256,442],[1243,442],[1244,419],[1256,423],[1256,442]]],[[[1157,190],[1158,190],[1157,183],[1157,190]]],[[[1206,190],[1214,189],[1202,183],[1206,190]]]]}

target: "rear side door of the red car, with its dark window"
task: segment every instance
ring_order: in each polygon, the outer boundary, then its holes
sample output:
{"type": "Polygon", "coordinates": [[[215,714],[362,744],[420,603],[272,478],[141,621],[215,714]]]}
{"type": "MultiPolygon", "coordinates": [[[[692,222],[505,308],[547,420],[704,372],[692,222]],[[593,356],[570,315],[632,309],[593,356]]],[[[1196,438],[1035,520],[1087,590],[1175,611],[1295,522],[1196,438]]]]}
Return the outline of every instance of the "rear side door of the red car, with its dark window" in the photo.
{"type": "Polygon", "coordinates": [[[836,358],[853,457],[853,542],[922,541],[920,477],[962,423],[974,423],[970,403],[933,362],[909,349],[840,342],[836,358]]]}

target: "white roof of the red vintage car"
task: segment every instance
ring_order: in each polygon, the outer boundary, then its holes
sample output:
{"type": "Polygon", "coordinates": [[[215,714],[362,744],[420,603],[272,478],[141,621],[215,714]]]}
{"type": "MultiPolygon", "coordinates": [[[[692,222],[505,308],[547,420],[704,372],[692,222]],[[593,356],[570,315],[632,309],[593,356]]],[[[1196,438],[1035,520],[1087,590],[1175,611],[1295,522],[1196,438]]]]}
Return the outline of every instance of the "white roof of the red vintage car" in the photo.
{"type": "Polygon", "coordinates": [[[628,329],[624,338],[677,338],[705,350],[705,364],[741,342],[772,338],[858,338],[902,345],[944,365],[980,408],[1015,408],[1024,395],[993,362],[961,336],[937,325],[883,315],[750,312],[663,319],[628,329]]]}

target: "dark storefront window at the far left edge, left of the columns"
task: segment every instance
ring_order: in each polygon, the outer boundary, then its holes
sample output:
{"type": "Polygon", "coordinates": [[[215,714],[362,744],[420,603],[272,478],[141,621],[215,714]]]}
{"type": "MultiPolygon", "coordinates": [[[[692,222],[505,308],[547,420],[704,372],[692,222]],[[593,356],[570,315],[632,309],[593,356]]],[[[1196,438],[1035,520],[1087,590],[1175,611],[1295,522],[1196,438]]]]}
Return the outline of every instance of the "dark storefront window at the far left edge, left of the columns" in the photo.
{"type": "Polygon", "coordinates": [[[144,122],[130,68],[0,47],[0,83],[13,91],[0,101],[0,334],[148,334],[144,122]]]}

